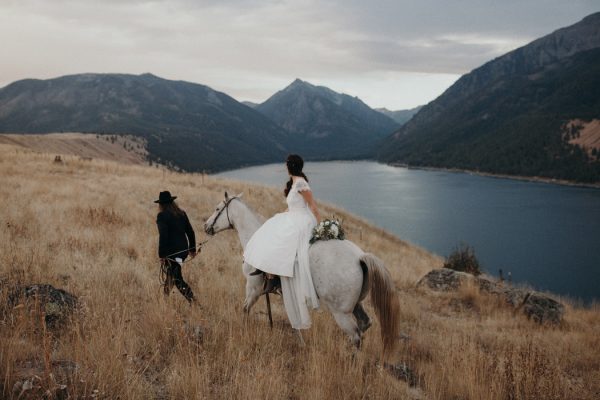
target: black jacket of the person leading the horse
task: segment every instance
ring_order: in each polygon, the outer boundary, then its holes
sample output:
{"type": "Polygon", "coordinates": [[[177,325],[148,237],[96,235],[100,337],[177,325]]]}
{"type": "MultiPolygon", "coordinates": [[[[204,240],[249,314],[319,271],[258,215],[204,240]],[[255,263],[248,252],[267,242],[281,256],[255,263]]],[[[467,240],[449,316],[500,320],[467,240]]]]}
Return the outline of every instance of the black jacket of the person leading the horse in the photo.
{"type": "Polygon", "coordinates": [[[196,235],[187,214],[176,215],[170,211],[161,211],[156,216],[158,226],[158,256],[185,259],[188,248],[196,247],[196,235]],[[182,251],[183,250],[183,251],[182,251]],[[177,254],[173,254],[178,252],[177,254]]]}

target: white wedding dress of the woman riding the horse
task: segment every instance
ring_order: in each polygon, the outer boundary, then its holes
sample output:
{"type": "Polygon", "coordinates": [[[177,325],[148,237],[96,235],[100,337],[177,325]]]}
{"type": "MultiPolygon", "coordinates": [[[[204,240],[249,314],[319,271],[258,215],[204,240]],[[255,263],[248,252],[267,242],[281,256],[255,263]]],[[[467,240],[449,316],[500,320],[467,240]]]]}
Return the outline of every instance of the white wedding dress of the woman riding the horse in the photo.
{"type": "Polygon", "coordinates": [[[281,277],[283,304],[294,329],[310,328],[308,306],[319,307],[308,262],[308,246],[317,221],[301,191],[308,183],[296,177],[286,201],[288,211],[275,214],[252,235],[244,261],[281,277]]]}

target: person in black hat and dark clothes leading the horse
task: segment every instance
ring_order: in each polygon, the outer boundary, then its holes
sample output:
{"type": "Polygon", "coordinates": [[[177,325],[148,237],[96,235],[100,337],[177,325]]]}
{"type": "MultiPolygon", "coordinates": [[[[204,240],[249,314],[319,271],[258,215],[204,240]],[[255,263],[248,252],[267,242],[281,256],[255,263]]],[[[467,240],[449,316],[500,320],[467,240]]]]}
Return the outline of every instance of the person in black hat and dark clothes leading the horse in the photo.
{"type": "Polygon", "coordinates": [[[181,275],[181,263],[190,255],[196,256],[196,235],[185,211],[183,211],[168,191],[160,192],[158,200],[159,213],[156,217],[158,226],[158,257],[163,265],[166,279],[165,294],[168,295],[173,285],[192,303],[194,293],[181,275]]]}

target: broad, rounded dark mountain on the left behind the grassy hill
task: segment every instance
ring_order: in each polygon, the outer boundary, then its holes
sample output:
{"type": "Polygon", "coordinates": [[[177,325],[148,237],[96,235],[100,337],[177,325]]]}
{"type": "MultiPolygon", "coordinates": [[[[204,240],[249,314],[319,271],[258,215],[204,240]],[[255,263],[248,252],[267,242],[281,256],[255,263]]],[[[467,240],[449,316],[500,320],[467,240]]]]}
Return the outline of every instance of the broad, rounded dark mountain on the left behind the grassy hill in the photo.
{"type": "Polygon", "coordinates": [[[0,132],[131,134],[148,158],[188,171],[284,159],[290,135],[208,86],[152,74],[26,79],[0,89],[0,132]]]}

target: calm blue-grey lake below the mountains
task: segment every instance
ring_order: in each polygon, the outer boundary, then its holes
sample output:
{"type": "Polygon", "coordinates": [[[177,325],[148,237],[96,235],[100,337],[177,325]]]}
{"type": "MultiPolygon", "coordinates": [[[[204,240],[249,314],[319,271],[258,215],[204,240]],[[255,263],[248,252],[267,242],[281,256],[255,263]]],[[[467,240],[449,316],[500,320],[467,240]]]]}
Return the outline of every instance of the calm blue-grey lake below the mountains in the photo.
{"type": "MultiPolygon", "coordinates": [[[[467,243],[483,268],[539,290],[600,299],[600,189],[391,167],[308,162],[317,199],[447,256],[467,243]]],[[[283,188],[284,163],[217,176],[283,188]]]]}

